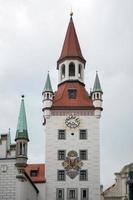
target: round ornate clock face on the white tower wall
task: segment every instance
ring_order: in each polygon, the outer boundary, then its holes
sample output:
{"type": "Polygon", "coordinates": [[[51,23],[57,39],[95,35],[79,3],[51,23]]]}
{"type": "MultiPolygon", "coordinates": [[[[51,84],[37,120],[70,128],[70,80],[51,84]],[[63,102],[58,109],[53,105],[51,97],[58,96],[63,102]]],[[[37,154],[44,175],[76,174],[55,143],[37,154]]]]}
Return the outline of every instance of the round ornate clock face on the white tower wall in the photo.
{"type": "Polygon", "coordinates": [[[80,125],[80,119],[78,117],[76,117],[76,115],[72,114],[66,118],[65,124],[69,128],[76,128],[80,125]]]}

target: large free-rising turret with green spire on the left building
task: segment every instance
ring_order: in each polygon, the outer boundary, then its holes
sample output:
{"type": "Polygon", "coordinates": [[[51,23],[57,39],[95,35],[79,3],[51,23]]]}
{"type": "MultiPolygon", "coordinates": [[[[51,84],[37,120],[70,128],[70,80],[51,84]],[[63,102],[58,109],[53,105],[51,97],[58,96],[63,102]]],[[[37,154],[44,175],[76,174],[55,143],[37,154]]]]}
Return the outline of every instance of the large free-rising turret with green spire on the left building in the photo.
{"type": "Polygon", "coordinates": [[[16,131],[16,167],[23,171],[27,166],[27,146],[29,142],[27,120],[24,105],[24,95],[22,95],[17,131],[16,131]]]}

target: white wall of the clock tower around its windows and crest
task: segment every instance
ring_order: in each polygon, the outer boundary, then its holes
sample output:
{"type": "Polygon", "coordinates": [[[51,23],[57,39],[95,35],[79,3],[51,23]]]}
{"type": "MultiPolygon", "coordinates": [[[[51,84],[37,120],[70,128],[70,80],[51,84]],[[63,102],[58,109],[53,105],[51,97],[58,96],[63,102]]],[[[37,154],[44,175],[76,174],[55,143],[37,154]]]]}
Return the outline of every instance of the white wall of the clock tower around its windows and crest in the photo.
{"type": "MultiPolygon", "coordinates": [[[[67,188],[78,188],[78,200],[80,200],[80,188],[89,188],[89,200],[100,199],[100,166],[99,166],[99,119],[94,115],[80,116],[80,127],[70,129],[65,125],[65,115],[51,116],[46,119],[46,199],[56,199],[56,188],[65,189],[65,199],[67,188]],[[66,140],[58,140],[58,129],[66,129],[66,140]],[[88,139],[79,140],[79,129],[88,130],[88,139]],[[74,136],[71,135],[74,133],[74,136]],[[66,154],[71,151],[88,150],[88,160],[83,161],[82,169],[88,169],[88,181],[79,181],[79,175],[70,179],[66,176],[66,181],[57,181],[57,170],[64,169],[63,161],[57,160],[57,151],[66,150],[66,154]]],[[[84,111],[83,111],[84,112],[84,111]]],[[[83,113],[82,112],[82,113],[83,113]]],[[[76,111],[73,111],[76,113],[76,111]]]]}

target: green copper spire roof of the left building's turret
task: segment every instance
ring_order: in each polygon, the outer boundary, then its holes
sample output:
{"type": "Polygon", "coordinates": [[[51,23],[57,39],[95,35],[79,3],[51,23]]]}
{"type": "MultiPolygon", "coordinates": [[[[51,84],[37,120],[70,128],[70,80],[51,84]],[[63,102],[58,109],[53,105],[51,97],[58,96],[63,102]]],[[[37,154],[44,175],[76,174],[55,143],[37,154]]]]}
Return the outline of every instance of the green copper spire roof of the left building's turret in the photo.
{"type": "Polygon", "coordinates": [[[22,100],[21,100],[15,141],[18,139],[25,139],[25,140],[29,141],[26,112],[25,112],[25,105],[24,105],[24,96],[22,96],[22,100]]]}

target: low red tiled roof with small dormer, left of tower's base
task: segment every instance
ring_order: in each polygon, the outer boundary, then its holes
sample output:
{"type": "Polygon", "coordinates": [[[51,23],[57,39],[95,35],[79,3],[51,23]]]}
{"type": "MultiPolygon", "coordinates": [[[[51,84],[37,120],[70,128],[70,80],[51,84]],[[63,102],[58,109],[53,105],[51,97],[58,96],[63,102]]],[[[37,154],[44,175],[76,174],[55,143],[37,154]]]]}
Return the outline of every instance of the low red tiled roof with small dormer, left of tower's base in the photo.
{"type": "Polygon", "coordinates": [[[28,164],[26,173],[31,178],[33,183],[44,183],[45,182],[45,164],[28,164]],[[37,171],[37,176],[31,176],[31,171],[37,171]]]}

